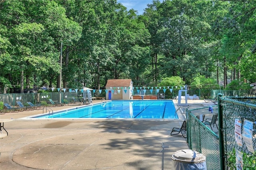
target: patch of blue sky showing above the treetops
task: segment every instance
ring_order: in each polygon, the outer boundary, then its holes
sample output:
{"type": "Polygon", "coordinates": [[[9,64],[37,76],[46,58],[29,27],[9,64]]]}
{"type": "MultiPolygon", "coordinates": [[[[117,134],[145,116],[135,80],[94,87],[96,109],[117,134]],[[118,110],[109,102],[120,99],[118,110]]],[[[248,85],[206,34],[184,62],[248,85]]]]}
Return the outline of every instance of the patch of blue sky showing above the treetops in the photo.
{"type": "MultiPolygon", "coordinates": [[[[163,0],[160,0],[162,2],[163,0]]],[[[127,8],[127,11],[134,9],[138,11],[139,15],[142,15],[144,9],[147,8],[147,4],[152,4],[152,0],[117,0],[118,3],[121,3],[127,8]]]]}

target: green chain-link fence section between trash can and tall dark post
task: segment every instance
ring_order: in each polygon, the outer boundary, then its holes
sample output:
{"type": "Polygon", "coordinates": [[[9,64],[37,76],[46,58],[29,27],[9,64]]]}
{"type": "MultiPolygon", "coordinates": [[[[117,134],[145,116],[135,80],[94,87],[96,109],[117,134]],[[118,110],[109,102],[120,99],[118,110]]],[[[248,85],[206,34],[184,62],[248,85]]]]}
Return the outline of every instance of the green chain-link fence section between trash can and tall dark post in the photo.
{"type": "Polygon", "coordinates": [[[206,166],[208,169],[220,169],[220,152],[218,137],[218,122],[213,125],[204,125],[203,122],[212,119],[214,114],[218,114],[218,107],[209,107],[187,110],[187,141],[190,149],[196,150],[206,156],[206,166]]]}

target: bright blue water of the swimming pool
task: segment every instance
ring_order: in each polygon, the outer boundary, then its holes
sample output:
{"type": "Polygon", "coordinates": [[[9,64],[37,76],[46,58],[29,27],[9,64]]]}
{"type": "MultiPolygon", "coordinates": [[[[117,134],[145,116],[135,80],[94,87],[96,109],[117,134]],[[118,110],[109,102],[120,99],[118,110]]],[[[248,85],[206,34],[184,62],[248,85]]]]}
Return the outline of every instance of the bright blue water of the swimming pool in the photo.
{"type": "Polygon", "coordinates": [[[178,119],[172,100],[122,100],[32,118],[178,119]]]}

